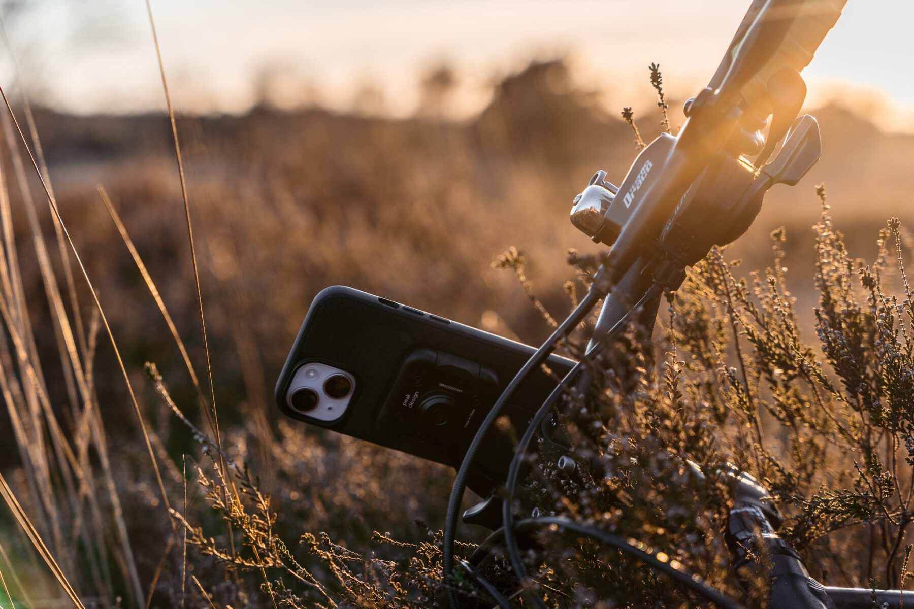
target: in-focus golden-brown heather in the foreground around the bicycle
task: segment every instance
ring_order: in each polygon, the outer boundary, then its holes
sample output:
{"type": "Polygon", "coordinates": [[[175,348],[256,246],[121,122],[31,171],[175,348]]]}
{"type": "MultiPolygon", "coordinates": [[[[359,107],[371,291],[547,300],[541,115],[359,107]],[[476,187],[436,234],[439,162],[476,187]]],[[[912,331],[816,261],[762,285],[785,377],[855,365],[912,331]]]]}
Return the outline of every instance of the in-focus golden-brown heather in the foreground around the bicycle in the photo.
{"type": "MultiPolygon", "coordinates": [[[[905,585],[911,548],[905,543],[912,493],[911,301],[906,291],[890,291],[895,282],[906,289],[901,227],[897,220],[888,223],[877,261],[867,266],[849,257],[824,188],[817,192],[823,204],[814,227],[817,340],[806,342],[800,333],[801,314],[786,288],[783,231],[772,235],[772,266],[749,278],[737,275],[739,263],[728,261],[725,252],[712,251],[681,289],[667,295],[654,341],[632,326],[617,339],[611,362],[589,362],[594,390],[569,391],[559,410],[577,466],[569,472],[530,457],[524,509],[638,541],[738,596],[742,588],[723,538],[729,487],[715,473],[732,463],[771,489],[785,519],[783,534],[814,577],[833,585],[905,585]]],[[[588,277],[590,258],[569,258],[579,276],[588,277]]],[[[537,308],[543,306],[517,250],[497,264],[514,270],[537,308]]],[[[569,352],[580,352],[586,334],[569,340],[569,352]]],[[[159,390],[167,396],[161,384],[159,390]]],[[[212,457],[215,445],[197,436],[212,457]]],[[[308,467],[304,459],[299,465],[308,467]]],[[[396,478],[392,470],[378,475],[396,478]]],[[[359,550],[314,523],[317,528],[299,532],[293,547],[271,536],[282,515],[271,510],[244,467],[227,472],[211,458],[199,466],[198,484],[211,509],[235,525],[236,546],[250,547],[260,558],[245,558],[243,551],[233,556],[225,534],[208,537],[182,516],[190,531],[187,543],[201,557],[248,572],[241,581],[251,582],[249,599],[259,588],[261,598],[272,596],[283,606],[429,606],[442,586],[451,585],[479,604],[491,604],[466,573],[441,582],[441,531],[434,523],[403,527],[401,536],[375,530],[359,550]],[[233,479],[242,488],[237,496],[228,492],[233,479]],[[219,486],[225,492],[216,492],[219,486]],[[226,496],[235,499],[227,502],[226,496]]],[[[313,500],[316,505],[321,498],[313,500]]],[[[541,550],[526,560],[536,573],[537,593],[550,606],[703,602],[593,541],[556,531],[539,541],[541,550]]],[[[474,547],[462,543],[458,551],[467,555],[474,547]]],[[[766,564],[761,552],[755,560],[766,564]]],[[[487,578],[510,587],[513,576],[503,560],[486,569],[487,578]]],[[[747,604],[763,606],[765,578],[755,583],[747,604]]]]}

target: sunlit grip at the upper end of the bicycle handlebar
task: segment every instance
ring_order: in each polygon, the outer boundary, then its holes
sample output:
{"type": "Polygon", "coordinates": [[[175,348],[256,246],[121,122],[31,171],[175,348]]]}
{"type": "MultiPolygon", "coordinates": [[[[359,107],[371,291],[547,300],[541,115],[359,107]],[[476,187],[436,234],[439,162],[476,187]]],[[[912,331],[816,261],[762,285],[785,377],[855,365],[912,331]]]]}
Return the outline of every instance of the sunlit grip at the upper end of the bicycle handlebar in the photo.
{"type": "Polygon", "coordinates": [[[769,3],[768,0],[753,0],[749,11],[743,17],[739,29],[728,47],[727,56],[717,68],[709,83],[717,89],[727,75],[740,47],[746,41],[752,24],[763,9],[766,20],[792,18],[792,24],[778,47],[755,73],[739,89],[741,105],[758,119],[767,119],[771,114],[771,100],[768,95],[768,79],[783,68],[802,71],[813,60],[813,54],[822,44],[828,31],[841,16],[847,0],[794,0],[791,2],[769,3]]]}

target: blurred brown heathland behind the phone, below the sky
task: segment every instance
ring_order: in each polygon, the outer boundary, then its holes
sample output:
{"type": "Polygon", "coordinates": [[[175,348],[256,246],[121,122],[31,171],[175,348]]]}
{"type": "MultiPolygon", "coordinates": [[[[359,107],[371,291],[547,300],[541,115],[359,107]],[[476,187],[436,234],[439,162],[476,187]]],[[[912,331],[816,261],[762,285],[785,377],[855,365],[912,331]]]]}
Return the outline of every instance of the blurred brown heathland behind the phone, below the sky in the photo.
{"type": "MultiPolygon", "coordinates": [[[[537,311],[513,276],[490,268],[495,255],[515,245],[526,254],[527,274],[547,308],[557,317],[568,310],[562,282],[574,274],[565,253],[569,247],[593,250],[568,222],[571,198],[600,168],[621,182],[634,147],[618,113],[601,109],[593,95],[573,89],[567,77],[559,61],[533,64],[501,82],[479,116],[460,122],[433,111],[395,121],[364,112],[276,110],[266,104],[239,117],[179,119],[220,421],[234,443],[231,450],[261,467],[265,489],[290,506],[297,527],[319,530],[331,522],[352,533],[351,540],[365,540],[372,529],[389,527],[387,515],[398,510],[400,532],[414,518],[437,526],[439,501],[446,496],[446,480],[434,467],[380,457],[335,437],[303,438],[301,425],[279,420],[271,404],[272,384],[320,289],[350,285],[537,341],[547,333],[537,311]],[[281,439],[268,446],[273,437],[281,439]],[[364,460],[349,460],[356,455],[364,460]],[[362,478],[336,487],[330,495],[342,499],[326,503],[331,508],[324,513],[315,512],[314,506],[324,504],[305,499],[309,488],[332,486],[354,470],[362,471],[362,478]],[[426,497],[438,499],[410,499],[415,487],[393,482],[391,471],[404,480],[437,479],[441,493],[427,489],[426,497]]],[[[644,86],[649,86],[646,69],[644,86]]],[[[653,138],[659,131],[657,109],[634,110],[645,139],[653,138]]],[[[813,185],[827,184],[837,227],[848,236],[852,254],[866,257],[875,255],[877,230],[887,217],[912,216],[908,196],[914,186],[909,170],[914,136],[879,131],[866,116],[838,107],[813,114],[823,131],[822,161],[802,184],[772,191],[759,220],[729,254],[742,257],[747,271],[763,268],[771,259],[769,233],[787,226],[790,281],[801,310],[813,306],[803,300],[804,290],[812,287],[809,226],[819,214],[813,185]]],[[[675,120],[681,121],[678,113],[675,120]]],[[[180,467],[181,455],[189,450],[188,434],[156,401],[143,380],[143,362],[158,365],[176,401],[199,421],[196,393],[96,190],[102,184],[111,194],[202,373],[196,294],[167,118],[36,110],[36,124],[61,214],[112,321],[128,371],[141,388],[143,412],[161,438],[162,451],[180,467]]],[[[13,175],[8,152],[2,162],[5,174],[13,175]]],[[[30,180],[40,202],[40,187],[30,180]]],[[[63,373],[53,364],[57,342],[51,314],[21,211],[22,194],[10,190],[37,352],[48,362],[44,373],[51,402],[63,413],[68,395],[63,373]]],[[[47,207],[37,208],[53,242],[47,207]]],[[[52,261],[62,277],[56,252],[52,261]]],[[[90,295],[79,277],[77,285],[76,314],[88,328],[90,295]]],[[[103,336],[98,340],[98,404],[113,450],[122,457],[117,467],[122,467],[128,521],[135,538],[143,540],[142,515],[154,506],[144,500],[155,493],[148,479],[133,477],[143,472],[147,457],[112,353],[103,336]]],[[[0,429],[9,425],[0,415],[0,429]]],[[[0,452],[4,471],[21,481],[16,446],[6,443],[0,452]]],[[[179,485],[182,475],[176,469],[167,473],[179,485]]],[[[11,523],[5,517],[0,522],[3,527],[11,523]]],[[[160,552],[138,561],[144,582],[160,552]]]]}

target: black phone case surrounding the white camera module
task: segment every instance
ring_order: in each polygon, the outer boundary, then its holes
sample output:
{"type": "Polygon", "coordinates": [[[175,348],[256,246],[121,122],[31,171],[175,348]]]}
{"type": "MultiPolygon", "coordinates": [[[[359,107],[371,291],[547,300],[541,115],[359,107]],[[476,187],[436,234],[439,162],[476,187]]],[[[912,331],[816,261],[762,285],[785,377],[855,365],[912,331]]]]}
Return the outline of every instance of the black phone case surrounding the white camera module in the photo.
{"type": "MultiPolygon", "coordinates": [[[[457,467],[494,399],[535,351],[529,345],[388,299],[334,286],[321,291],[308,310],[276,383],[276,403],[284,414],[312,425],[457,467]],[[429,351],[478,364],[482,370],[489,371],[486,382],[493,387],[493,391],[484,394],[482,403],[473,408],[473,415],[465,427],[461,425],[460,433],[436,441],[398,433],[390,420],[382,417],[382,411],[389,411],[390,404],[396,403],[388,397],[399,383],[399,373],[405,362],[429,351]],[[324,362],[355,376],[352,401],[340,419],[329,423],[316,421],[292,410],[286,403],[292,375],[305,362],[324,362]],[[491,373],[494,373],[495,385],[492,385],[491,373]],[[385,404],[388,404],[387,408],[385,404]]],[[[574,362],[553,355],[547,365],[561,377],[574,362]]],[[[555,385],[555,379],[547,373],[530,374],[503,411],[515,429],[526,427],[555,385]]],[[[471,488],[484,494],[504,481],[513,451],[511,439],[493,428],[481,446],[477,458],[479,466],[470,477],[471,488]]]]}

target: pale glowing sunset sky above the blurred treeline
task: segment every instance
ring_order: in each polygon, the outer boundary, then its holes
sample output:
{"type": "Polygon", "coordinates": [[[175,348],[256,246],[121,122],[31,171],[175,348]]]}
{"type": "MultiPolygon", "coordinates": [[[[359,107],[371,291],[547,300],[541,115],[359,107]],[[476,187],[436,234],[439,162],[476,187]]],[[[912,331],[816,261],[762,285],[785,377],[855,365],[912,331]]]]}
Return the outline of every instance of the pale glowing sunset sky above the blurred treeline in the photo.
{"type": "MultiPolygon", "coordinates": [[[[179,109],[242,111],[271,74],[281,98],[305,91],[345,108],[365,83],[393,114],[417,102],[423,69],[461,72],[458,114],[484,104],[499,74],[530,58],[568,55],[576,78],[611,106],[650,93],[646,66],[659,62],[667,89],[690,95],[716,68],[748,0],[153,0],[179,109]],[[263,79],[260,78],[262,81],[263,79]],[[279,87],[275,83],[280,83],[279,87]]],[[[142,0],[37,0],[5,24],[30,89],[80,112],[162,107],[154,46],[142,0]]],[[[914,115],[909,24],[914,3],[850,0],[804,73],[811,100],[861,96],[914,115]]],[[[0,62],[10,81],[9,53],[0,62]]],[[[914,124],[914,121],[911,121],[914,124]]],[[[907,128],[907,124],[903,125],[907,128]]]]}

